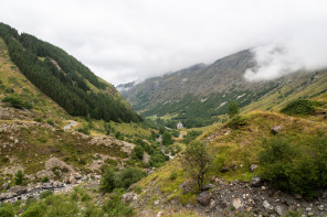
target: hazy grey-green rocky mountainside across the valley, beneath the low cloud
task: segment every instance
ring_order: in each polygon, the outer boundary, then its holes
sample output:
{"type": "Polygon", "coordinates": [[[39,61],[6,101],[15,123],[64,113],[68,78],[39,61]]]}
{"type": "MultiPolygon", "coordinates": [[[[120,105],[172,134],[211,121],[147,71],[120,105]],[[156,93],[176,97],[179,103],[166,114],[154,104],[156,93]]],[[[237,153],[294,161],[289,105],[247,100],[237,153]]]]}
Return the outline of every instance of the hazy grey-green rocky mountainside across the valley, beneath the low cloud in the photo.
{"type": "MultiPolygon", "coordinates": [[[[198,65],[147,79],[122,93],[145,117],[168,115],[177,121],[182,121],[187,127],[196,127],[221,120],[218,116],[226,112],[228,102],[231,100],[238,101],[240,107],[245,107],[276,90],[281,90],[284,97],[288,96],[291,90],[286,89],[291,86],[292,94],[302,91],[313,84],[320,84],[317,85],[319,90],[313,88],[309,95],[327,89],[326,83],[319,82],[326,70],[314,74],[302,72],[276,80],[249,83],[243,75],[245,69],[251,67],[255,67],[253,54],[243,51],[211,65],[198,65]]],[[[283,96],[279,98],[283,100],[283,96]]]]}

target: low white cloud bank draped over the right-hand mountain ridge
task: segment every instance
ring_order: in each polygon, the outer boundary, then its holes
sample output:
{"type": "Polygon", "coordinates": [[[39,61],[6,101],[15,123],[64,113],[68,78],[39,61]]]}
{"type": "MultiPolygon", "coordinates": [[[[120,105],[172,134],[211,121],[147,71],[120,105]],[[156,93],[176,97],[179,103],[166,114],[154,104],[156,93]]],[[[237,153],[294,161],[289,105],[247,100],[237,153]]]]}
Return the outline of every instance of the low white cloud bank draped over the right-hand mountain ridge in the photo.
{"type": "Polygon", "coordinates": [[[327,67],[327,29],[319,23],[312,24],[292,32],[287,40],[253,48],[256,66],[245,70],[245,79],[271,80],[302,69],[327,67]]]}

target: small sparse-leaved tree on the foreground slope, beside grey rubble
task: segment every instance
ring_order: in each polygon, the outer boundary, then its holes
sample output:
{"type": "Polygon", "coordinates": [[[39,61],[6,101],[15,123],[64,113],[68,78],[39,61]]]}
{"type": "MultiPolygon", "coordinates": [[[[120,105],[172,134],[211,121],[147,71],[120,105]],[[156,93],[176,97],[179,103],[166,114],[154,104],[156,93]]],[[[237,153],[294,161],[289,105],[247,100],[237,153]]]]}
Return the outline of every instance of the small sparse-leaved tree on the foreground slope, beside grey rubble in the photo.
{"type": "Polygon", "coordinates": [[[201,191],[211,163],[211,156],[205,143],[193,141],[188,144],[184,151],[183,161],[186,170],[191,178],[197,182],[198,187],[201,191]]]}

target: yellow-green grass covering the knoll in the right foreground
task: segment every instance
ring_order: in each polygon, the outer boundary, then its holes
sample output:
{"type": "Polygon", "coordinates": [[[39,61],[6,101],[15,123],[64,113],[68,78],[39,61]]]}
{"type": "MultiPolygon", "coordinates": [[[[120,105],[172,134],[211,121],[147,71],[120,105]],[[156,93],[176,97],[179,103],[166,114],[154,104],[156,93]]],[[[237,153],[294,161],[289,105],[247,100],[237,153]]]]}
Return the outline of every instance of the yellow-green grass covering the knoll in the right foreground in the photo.
{"type": "MultiPolygon", "coordinates": [[[[238,126],[238,122],[217,124],[203,133],[198,140],[208,143],[208,150],[212,156],[207,183],[210,183],[212,177],[219,177],[224,182],[235,180],[246,182],[254,175],[262,175],[263,167],[259,158],[264,149],[264,141],[287,138],[292,141],[291,147],[294,150],[309,149],[310,145],[315,145],[313,142],[315,138],[323,137],[327,130],[326,116],[321,115],[326,112],[327,95],[319,96],[316,100],[323,105],[314,116],[291,117],[279,112],[257,110],[242,116],[245,124],[238,126]],[[281,130],[274,133],[272,129],[276,126],[281,130]],[[252,172],[251,165],[259,167],[252,172]]],[[[182,164],[182,154],[179,155],[137,184],[135,193],[140,199],[135,204],[136,207],[154,214],[162,210],[162,207],[166,207],[166,214],[176,211],[178,214],[187,209],[184,205],[197,207],[197,187],[191,185],[193,189],[191,187],[188,193],[181,187],[190,181],[184,170],[187,165],[182,164]]],[[[191,214],[182,213],[182,215],[191,214]]]]}

